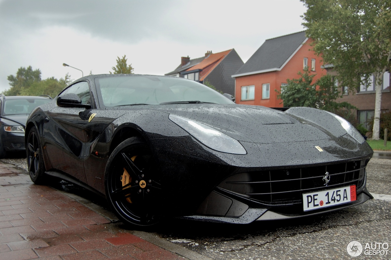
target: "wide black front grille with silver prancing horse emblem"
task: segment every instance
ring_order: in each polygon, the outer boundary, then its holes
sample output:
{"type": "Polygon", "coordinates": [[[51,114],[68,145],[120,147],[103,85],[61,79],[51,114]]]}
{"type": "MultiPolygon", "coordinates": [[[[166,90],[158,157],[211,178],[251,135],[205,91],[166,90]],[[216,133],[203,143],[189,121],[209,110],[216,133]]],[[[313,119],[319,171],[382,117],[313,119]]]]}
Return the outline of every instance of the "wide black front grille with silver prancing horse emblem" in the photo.
{"type": "Polygon", "coordinates": [[[219,188],[268,204],[299,203],[303,193],[364,183],[365,161],[315,167],[243,172],[228,177],[219,188]],[[327,186],[323,177],[328,172],[327,186]]]}

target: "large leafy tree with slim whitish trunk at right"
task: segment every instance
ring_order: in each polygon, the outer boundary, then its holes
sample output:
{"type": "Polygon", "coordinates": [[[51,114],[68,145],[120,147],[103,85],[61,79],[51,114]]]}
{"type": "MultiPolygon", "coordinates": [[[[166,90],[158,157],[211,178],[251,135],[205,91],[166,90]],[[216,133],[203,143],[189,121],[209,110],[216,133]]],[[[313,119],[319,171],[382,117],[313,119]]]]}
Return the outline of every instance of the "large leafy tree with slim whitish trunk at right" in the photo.
{"type": "Polygon", "coordinates": [[[301,0],[314,51],[333,64],[339,81],[357,89],[375,76],[373,139],[379,139],[381,85],[391,59],[391,1],[301,0]]]}

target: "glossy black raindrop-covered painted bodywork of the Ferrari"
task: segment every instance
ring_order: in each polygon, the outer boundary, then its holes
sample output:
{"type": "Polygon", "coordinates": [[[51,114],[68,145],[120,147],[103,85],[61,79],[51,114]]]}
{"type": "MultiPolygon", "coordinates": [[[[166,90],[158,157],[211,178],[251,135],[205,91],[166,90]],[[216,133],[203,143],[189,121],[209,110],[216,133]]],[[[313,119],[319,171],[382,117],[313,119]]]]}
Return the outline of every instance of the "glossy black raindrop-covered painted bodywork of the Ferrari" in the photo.
{"type": "MultiPolygon", "coordinates": [[[[123,140],[142,136],[151,148],[154,170],[159,172],[159,181],[165,187],[156,203],[161,205],[162,215],[198,216],[204,200],[211,192],[217,192],[234,203],[246,203],[253,208],[246,210],[246,214],[243,212],[241,218],[238,213],[234,216],[224,213],[219,219],[215,216],[193,218],[248,223],[273,207],[219,190],[217,186],[229,176],[353,160],[368,163],[372,155],[366,142],[355,141],[332,115],[318,109],[291,108],[282,112],[237,104],[99,109],[93,81],[98,76],[82,79],[90,84],[91,109],[62,108],[54,100],[32,113],[27,131],[32,126],[39,129],[48,172],[72,176],[74,181],[86,184],[102,195],[105,194],[104,169],[111,152],[123,140]],[[95,116],[90,120],[93,114],[95,116]],[[228,154],[206,147],[169,120],[169,114],[196,120],[239,140],[247,154],[228,154]],[[317,151],[315,146],[320,146],[324,152],[317,151]]],[[[360,192],[364,192],[364,188],[360,192]]],[[[362,203],[369,196],[357,202],[362,203]]],[[[357,203],[348,206],[353,204],[357,203]]],[[[279,208],[282,208],[280,212],[289,214],[292,205],[279,208]]]]}

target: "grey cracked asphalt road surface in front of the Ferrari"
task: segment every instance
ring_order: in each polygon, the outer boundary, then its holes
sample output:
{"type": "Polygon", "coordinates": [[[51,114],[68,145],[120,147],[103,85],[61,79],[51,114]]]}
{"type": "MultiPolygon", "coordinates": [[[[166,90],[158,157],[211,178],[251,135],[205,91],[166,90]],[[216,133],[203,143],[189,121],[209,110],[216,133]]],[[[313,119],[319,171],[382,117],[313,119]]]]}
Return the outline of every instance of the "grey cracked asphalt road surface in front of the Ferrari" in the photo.
{"type": "MultiPolygon", "coordinates": [[[[25,168],[24,158],[3,161],[25,168]]],[[[149,232],[212,259],[350,259],[346,246],[351,240],[391,246],[391,160],[372,158],[367,172],[375,199],[345,210],[249,225],[169,219],[149,232]]],[[[64,187],[85,194],[72,185],[64,187]]],[[[391,247],[389,255],[357,259],[391,259],[391,247]]]]}

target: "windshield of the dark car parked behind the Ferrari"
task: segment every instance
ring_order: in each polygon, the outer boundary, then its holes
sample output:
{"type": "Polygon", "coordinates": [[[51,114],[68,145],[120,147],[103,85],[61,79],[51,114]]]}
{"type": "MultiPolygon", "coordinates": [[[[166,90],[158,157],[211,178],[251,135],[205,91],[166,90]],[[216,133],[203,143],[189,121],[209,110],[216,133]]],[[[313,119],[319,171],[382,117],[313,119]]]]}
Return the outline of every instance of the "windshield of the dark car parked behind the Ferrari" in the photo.
{"type": "Polygon", "coordinates": [[[51,99],[34,99],[21,98],[21,99],[6,99],[4,102],[3,115],[23,115],[30,114],[31,111],[37,106],[46,104],[52,101],[51,99]]]}

